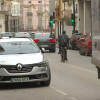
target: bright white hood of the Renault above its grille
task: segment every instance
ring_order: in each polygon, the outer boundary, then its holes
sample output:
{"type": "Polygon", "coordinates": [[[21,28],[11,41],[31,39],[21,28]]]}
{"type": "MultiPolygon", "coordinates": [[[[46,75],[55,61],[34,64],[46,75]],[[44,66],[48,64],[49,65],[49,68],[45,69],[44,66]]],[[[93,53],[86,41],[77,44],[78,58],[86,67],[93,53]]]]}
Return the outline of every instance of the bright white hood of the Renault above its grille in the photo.
{"type": "Polygon", "coordinates": [[[42,60],[43,55],[41,53],[0,55],[1,65],[33,64],[42,62],[42,60]]]}

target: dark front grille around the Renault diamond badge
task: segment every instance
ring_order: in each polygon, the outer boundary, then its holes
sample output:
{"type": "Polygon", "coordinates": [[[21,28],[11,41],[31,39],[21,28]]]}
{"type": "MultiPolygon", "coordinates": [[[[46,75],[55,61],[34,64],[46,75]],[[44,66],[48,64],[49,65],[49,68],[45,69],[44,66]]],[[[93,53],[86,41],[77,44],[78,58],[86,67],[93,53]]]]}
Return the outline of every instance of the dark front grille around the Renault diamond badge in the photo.
{"type": "Polygon", "coordinates": [[[2,68],[5,68],[9,73],[27,73],[31,72],[34,65],[23,65],[21,71],[18,71],[17,67],[15,65],[1,65],[2,68]]]}

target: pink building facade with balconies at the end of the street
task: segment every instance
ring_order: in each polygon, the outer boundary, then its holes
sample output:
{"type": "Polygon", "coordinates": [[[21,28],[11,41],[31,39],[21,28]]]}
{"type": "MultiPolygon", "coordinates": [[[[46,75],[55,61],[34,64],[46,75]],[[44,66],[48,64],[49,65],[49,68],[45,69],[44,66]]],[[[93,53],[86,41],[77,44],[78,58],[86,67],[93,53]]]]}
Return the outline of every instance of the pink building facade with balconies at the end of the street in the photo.
{"type": "Polygon", "coordinates": [[[25,31],[47,31],[49,22],[48,0],[24,0],[23,22],[25,31]],[[34,5],[34,8],[33,6],[34,5]],[[29,7],[31,6],[31,7],[29,7]],[[28,7],[28,8],[27,8],[28,7]]]}

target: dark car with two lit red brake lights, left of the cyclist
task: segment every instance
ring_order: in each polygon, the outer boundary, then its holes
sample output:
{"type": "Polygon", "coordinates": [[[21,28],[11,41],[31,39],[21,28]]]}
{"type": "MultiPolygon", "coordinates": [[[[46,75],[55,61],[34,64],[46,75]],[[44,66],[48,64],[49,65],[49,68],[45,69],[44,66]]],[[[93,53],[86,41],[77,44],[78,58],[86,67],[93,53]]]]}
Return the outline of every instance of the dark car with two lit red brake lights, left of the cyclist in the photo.
{"type": "Polygon", "coordinates": [[[50,33],[35,33],[34,41],[37,43],[39,48],[45,48],[45,50],[49,50],[50,52],[56,51],[56,44],[53,34],[50,33]]]}

